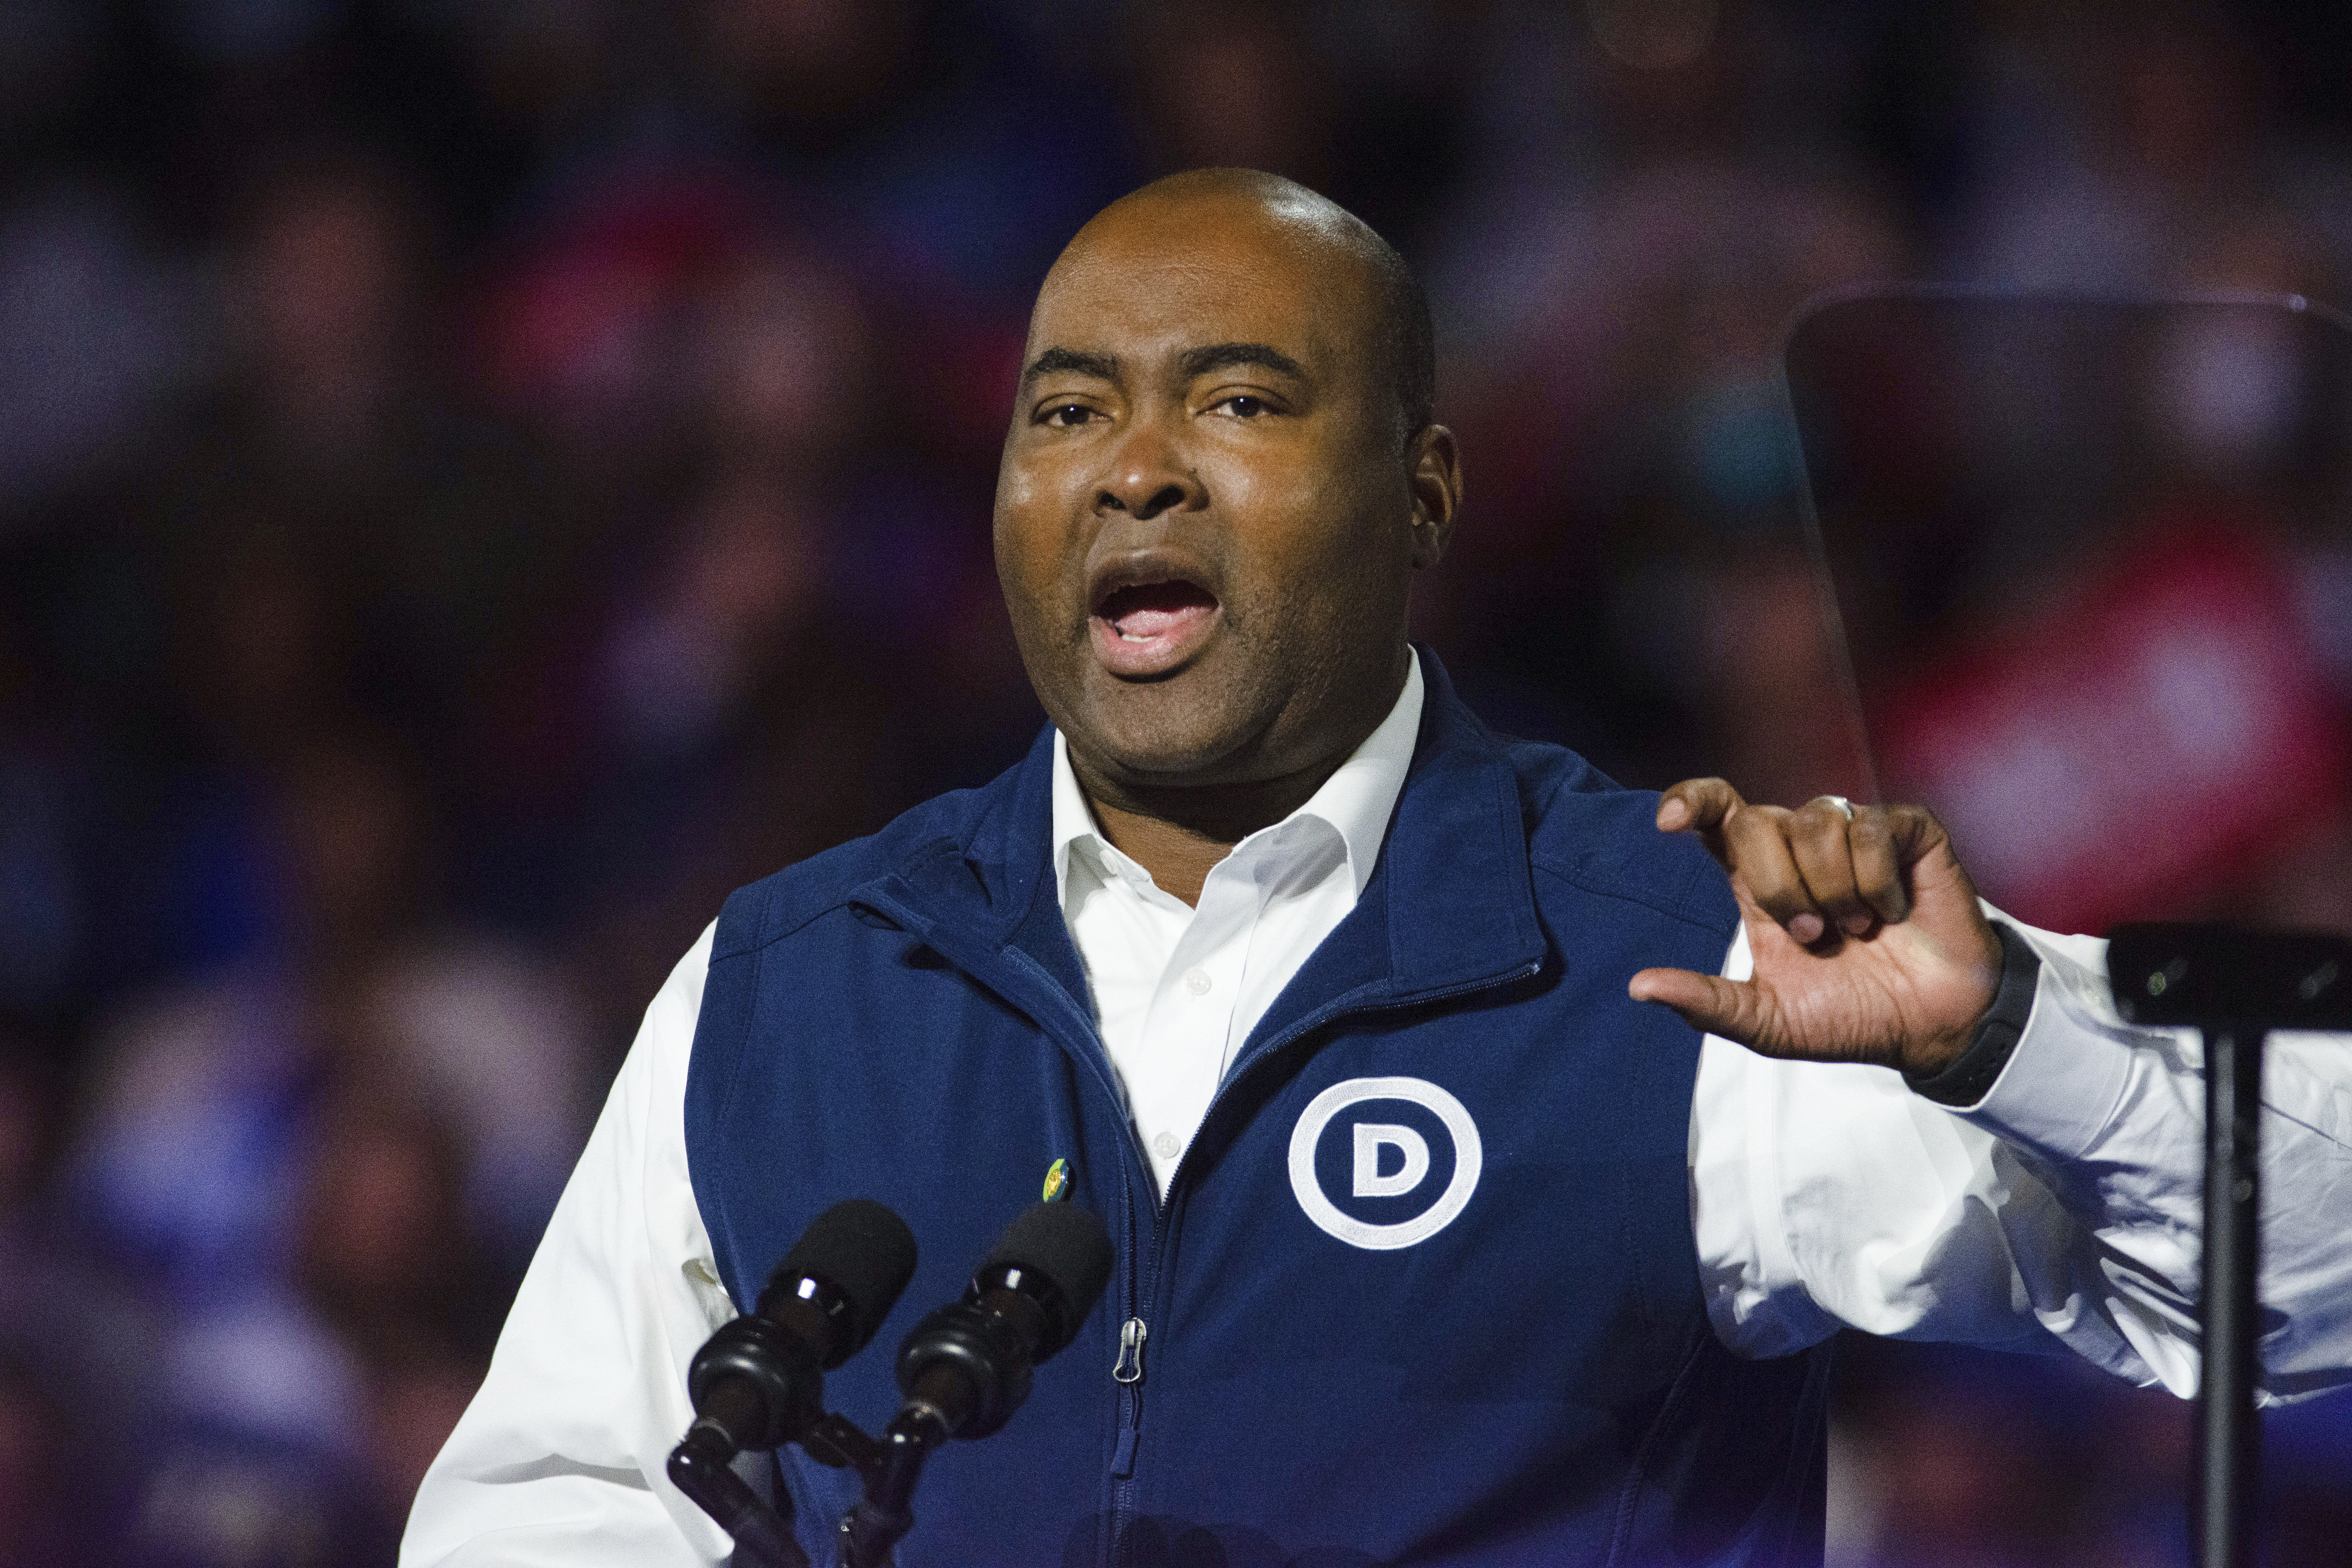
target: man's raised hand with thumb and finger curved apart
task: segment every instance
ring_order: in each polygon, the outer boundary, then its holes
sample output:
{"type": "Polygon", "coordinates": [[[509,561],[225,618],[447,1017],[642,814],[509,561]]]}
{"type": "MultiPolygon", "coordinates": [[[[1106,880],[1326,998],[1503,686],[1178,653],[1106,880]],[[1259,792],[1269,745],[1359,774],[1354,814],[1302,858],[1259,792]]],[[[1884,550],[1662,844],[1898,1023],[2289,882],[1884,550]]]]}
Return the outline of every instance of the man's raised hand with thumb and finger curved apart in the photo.
{"type": "Polygon", "coordinates": [[[1740,903],[1755,978],[1644,969],[1628,992],[1764,1056],[1877,1063],[1915,1077],[1957,1058],[1992,1006],[2002,943],[1924,806],[1750,806],[1722,778],[1658,802],[1740,903]],[[1851,816],[1849,816],[1851,811],[1851,816]]]}

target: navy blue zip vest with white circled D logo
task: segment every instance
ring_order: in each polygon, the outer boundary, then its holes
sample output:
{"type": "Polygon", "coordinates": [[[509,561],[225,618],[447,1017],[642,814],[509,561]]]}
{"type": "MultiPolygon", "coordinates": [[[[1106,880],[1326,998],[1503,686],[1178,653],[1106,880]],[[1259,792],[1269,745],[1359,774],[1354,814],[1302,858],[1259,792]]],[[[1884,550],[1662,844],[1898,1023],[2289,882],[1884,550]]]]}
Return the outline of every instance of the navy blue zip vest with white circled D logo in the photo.
{"type": "MultiPolygon", "coordinates": [[[[1653,795],[1486,731],[1421,658],[1371,882],[1164,1201],[1056,898],[1051,733],[727,900],[687,1072],[727,1291],[748,1307],[844,1197],[922,1248],[830,1408],[880,1429],[898,1338],[1056,1159],[1117,1246],[1030,1401],[931,1460],[906,1568],[1820,1563],[1828,1356],[1715,1340],[1698,1034],[1625,997],[1637,969],[1722,964],[1724,877],[1653,795]]],[[[783,1481],[833,1561],[851,1474],[793,1450],[783,1481]]]]}

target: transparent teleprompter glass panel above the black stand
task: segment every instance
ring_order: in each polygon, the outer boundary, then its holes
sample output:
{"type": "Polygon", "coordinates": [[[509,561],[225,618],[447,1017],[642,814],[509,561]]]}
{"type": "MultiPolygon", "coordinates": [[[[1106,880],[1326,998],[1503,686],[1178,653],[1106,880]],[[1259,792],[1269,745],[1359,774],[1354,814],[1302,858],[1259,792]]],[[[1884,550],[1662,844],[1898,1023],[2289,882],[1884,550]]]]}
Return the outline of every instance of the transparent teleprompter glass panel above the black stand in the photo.
{"type": "Polygon", "coordinates": [[[1882,292],[1785,350],[1884,799],[2042,926],[2352,929],[2352,329],[1882,292]]]}

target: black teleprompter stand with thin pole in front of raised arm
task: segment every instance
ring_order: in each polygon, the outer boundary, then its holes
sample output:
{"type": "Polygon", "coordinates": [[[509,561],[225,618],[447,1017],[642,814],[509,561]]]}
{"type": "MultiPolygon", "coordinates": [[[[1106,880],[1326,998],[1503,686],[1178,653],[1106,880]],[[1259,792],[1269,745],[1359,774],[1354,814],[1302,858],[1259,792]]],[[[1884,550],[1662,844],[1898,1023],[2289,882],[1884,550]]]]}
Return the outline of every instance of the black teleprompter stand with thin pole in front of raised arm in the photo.
{"type": "Polygon", "coordinates": [[[2352,940],[2213,924],[2117,926],[2107,985],[2131,1023],[2204,1034],[2204,1378],[2190,1535],[2199,1568],[2251,1568],[2263,1455],[2253,1415],[2263,1039],[2270,1030],[2352,1027],[2352,940]]]}

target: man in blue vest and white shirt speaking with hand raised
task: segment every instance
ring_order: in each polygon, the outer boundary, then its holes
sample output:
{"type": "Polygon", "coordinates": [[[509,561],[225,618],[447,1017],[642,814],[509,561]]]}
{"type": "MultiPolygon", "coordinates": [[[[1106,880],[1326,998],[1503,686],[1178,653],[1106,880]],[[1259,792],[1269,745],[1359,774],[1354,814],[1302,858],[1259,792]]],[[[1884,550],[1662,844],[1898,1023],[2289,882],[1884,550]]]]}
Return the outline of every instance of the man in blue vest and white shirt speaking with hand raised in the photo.
{"type": "MultiPolygon", "coordinates": [[[[1181,174],[1070,242],[995,510],[1051,731],[729,898],[405,1563],[722,1561],[663,1479],[703,1338],[870,1197],[922,1244],[896,1342],[1056,1166],[1103,1309],[931,1462],[906,1563],[1818,1563],[1842,1324],[2194,1387],[2183,1044],[2098,943],[1987,922],[1924,811],[1486,731],[1404,639],[1461,503],[1430,404],[1411,275],[1298,186],[1181,174]]],[[[2277,1392],[2352,1361],[2314,1060],[2267,1091],[2277,1392]]],[[[882,1420],[889,1356],[828,1401],[882,1420]]],[[[826,1561],[854,1476],[783,1479],[826,1561]]]]}

